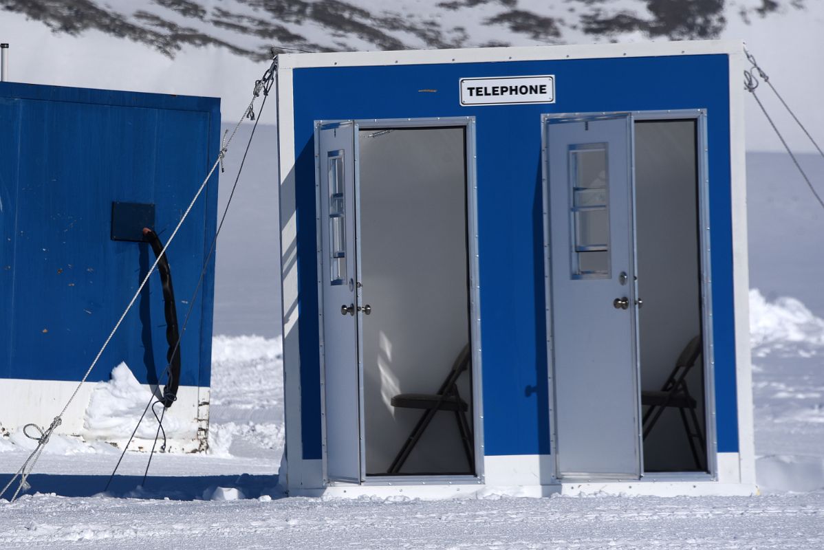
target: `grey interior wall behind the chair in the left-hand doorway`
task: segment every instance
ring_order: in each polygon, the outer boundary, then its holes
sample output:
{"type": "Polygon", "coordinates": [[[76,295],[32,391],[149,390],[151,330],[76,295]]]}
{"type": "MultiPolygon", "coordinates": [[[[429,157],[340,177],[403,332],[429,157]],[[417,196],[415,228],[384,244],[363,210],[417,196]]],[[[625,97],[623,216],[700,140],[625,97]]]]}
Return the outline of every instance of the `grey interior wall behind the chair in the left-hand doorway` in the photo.
{"type": "MultiPolygon", "coordinates": [[[[359,139],[366,468],[377,474],[423,413],[392,396],[436,393],[469,342],[465,147],[462,128],[359,139]]],[[[468,373],[459,388],[471,402],[468,373]]],[[[438,413],[401,473],[468,468],[454,415],[438,413]]]]}

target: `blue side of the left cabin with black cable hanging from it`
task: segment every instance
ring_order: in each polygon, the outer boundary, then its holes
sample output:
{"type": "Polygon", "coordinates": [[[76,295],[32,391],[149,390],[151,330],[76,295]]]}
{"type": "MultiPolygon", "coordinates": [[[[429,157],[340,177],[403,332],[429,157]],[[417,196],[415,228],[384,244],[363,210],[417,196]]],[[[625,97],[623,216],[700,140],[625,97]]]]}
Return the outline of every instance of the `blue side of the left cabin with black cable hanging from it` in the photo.
{"type": "MultiPolygon", "coordinates": [[[[166,242],[220,148],[220,100],[0,83],[0,376],[80,380],[154,262],[110,240],[111,203],[156,204],[166,242]]],[[[179,323],[215,231],[218,175],[168,249],[179,323]]],[[[214,259],[181,342],[181,385],[208,386],[214,259]]],[[[166,368],[152,275],[92,371],[166,368]]],[[[162,380],[162,381],[165,381],[162,380]]]]}

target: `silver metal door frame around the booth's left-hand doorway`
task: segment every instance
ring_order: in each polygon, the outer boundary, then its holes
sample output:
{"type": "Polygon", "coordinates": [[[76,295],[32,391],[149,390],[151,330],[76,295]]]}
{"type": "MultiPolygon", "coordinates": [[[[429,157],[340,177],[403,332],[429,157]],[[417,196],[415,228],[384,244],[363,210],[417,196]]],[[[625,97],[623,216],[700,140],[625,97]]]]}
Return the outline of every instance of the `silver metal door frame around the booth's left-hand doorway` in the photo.
{"type": "MultiPolygon", "coordinates": [[[[484,403],[482,392],[482,369],[481,369],[481,336],[480,336],[480,267],[479,267],[479,247],[478,247],[478,201],[477,201],[477,175],[475,169],[475,161],[477,159],[475,149],[475,117],[461,116],[461,117],[432,117],[419,119],[345,119],[345,120],[316,120],[315,127],[319,128],[321,124],[344,124],[352,121],[355,124],[356,139],[354,143],[355,150],[355,198],[359,203],[360,197],[360,170],[359,170],[359,140],[357,139],[358,129],[369,128],[436,128],[442,126],[462,126],[466,128],[466,231],[471,238],[468,239],[467,261],[469,263],[469,301],[470,301],[470,343],[472,347],[472,435],[475,438],[474,453],[475,453],[475,475],[431,475],[431,476],[369,476],[366,475],[366,452],[365,442],[363,440],[364,434],[364,418],[363,418],[363,360],[361,359],[361,350],[363,343],[361,342],[361,323],[363,315],[358,314],[358,391],[360,394],[360,464],[361,464],[361,485],[426,485],[433,482],[440,484],[475,484],[484,483],[484,403]]],[[[322,259],[323,250],[321,249],[321,217],[320,217],[320,187],[319,175],[320,170],[319,157],[317,152],[318,141],[315,140],[316,156],[316,231],[318,235],[317,240],[317,273],[318,277],[322,273],[322,259]]],[[[360,277],[360,245],[358,243],[360,235],[360,217],[358,216],[358,206],[355,206],[355,263],[360,277]]],[[[317,282],[318,287],[318,304],[323,304],[323,285],[320,278],[317,282]]],[[[363,305],[361,291],[357,291],[358,306],[363,305]]],[[[330,481],[327,474],[327,456],[326,456],[326,422],[325,422],[325,357],[324,357],[324,328],[323,328],[323,309],[319,308],[318,315],[318,330],[320,331],[320,358],[321,358],[321,449],[323,454],[322,472],[323,481],[325,485],[344,485],[344,482],[330,481]]]]}

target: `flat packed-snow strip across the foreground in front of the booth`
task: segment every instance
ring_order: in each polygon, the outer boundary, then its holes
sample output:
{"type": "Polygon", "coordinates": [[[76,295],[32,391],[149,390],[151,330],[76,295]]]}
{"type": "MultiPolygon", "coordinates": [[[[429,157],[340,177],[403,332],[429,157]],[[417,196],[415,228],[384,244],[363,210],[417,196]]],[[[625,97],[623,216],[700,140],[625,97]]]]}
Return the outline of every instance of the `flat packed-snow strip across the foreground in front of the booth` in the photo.
{"type": "Polygon", "coordinates": [[[822,548],[820,495],[456,501],[26,496],[2,548],[822,548]]]}

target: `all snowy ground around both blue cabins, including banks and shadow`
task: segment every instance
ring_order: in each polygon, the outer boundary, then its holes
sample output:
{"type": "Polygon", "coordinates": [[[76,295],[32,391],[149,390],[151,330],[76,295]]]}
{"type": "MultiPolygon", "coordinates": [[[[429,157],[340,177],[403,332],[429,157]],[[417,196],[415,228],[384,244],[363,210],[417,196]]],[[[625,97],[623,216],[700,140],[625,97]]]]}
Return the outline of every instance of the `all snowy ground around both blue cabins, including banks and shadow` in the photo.
{"type": "MultiPolygon", "coordinates": [[[[824,321],[794,299],[753,290],[750,301],[765,496],[282,498],[281,341],[218,336],[207,454],[156,454],[141,486],[147,453],[129,452],[102,493],[118,451],[53,440],[31,478],[38,493],[0,504],[0,548],[824,548],[824,321]]],[[[127,403],[129,375],[118,366],[110,384],[127,403]]],[[[139,414],[109,411],[113,426],[139,414]]],[[[2,471],[23,445],[0,438],[2,471]]]]}

